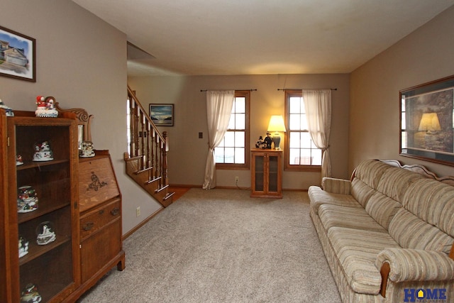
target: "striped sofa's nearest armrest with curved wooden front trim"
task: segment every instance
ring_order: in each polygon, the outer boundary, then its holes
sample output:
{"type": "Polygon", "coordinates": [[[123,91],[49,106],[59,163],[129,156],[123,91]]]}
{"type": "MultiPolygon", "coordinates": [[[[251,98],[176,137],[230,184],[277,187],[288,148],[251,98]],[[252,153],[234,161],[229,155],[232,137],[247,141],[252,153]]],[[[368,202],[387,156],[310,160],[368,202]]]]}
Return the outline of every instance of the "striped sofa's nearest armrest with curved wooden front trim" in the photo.
{"type": "Polygon", "coordinates": [[[385,248],[377,255],[375,266],[382,274],[382,297],[388,279],[392,282],[454,280],[454,260],[436,250],[385,248]]]}

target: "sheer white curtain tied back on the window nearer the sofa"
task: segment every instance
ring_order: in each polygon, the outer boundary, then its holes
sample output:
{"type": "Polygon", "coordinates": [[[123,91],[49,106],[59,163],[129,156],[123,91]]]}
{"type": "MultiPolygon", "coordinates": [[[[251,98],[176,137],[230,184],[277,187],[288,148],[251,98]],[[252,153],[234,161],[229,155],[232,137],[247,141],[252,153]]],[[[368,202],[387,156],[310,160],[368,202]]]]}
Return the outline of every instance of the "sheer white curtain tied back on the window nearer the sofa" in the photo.
{"type": "Polygon", "coordinates": [[[331,133],[331,89],[303,89],[302,97],[311,139],[322,150],[321,178],[331,177],[329,135],[331,133]]]}

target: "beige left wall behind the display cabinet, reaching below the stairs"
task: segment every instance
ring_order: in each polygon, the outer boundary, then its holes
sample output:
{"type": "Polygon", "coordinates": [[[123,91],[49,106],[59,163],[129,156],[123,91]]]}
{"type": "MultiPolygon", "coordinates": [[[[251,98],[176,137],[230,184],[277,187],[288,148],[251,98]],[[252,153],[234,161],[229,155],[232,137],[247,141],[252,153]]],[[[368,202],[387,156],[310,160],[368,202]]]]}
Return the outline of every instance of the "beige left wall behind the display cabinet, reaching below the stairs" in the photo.
{"type": "Polygon", "coordinates": [[[37,81],[0,77],[0,99],[34,111],[35,97],[94,115],[95,148],[108,149],[123,194],[123,233],[159,208],[124,175],[126,149],[126,35],[69,0],[2,1],[0,25],[36,39],[37,81]],[[135,207],[142,216],[136,218],[135,207]]]}

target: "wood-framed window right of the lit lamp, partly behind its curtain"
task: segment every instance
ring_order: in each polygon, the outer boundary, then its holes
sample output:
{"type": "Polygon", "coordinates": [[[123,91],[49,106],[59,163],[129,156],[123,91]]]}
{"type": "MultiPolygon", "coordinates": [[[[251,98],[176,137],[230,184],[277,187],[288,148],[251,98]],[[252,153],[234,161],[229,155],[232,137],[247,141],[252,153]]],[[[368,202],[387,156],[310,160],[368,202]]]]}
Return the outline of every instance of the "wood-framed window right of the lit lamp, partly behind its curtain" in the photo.
{"type": "Polygon", "coordinates": [[[288,148],[285,150],[285,169],[320,171],[321,149],[317,148],[311,140],[301,96],[301,91],[285,92],[288,143],[288,148]]]}

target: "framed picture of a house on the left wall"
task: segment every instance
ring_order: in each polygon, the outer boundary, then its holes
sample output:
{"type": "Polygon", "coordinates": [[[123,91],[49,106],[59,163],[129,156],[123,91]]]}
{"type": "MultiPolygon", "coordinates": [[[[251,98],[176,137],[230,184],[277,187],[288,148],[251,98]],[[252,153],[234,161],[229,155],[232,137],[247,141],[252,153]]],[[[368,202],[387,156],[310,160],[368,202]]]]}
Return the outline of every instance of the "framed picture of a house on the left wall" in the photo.
{"type": "Polygon", "coordinates": [[[36,82],[36,40],[0,26],[0,75],[36,82]]]}

